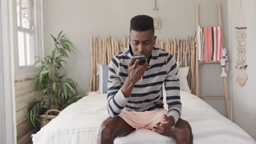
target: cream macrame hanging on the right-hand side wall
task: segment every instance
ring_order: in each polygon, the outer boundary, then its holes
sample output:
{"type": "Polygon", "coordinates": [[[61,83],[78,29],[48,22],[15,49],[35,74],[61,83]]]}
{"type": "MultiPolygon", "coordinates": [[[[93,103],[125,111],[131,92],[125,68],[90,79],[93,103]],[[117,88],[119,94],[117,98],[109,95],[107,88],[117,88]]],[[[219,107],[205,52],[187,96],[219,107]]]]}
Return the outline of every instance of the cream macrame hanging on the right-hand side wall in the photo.
{"type": "Polygon", "coordinates": [[[238,69],[236,74],[236,81],[240,86],[244,86],[247,79],[247,62],[246,62],[246,21],[243,13],[242,1],[240,0],[240,8],[237,16],[236,28],[236,66],[238,69]]]}

